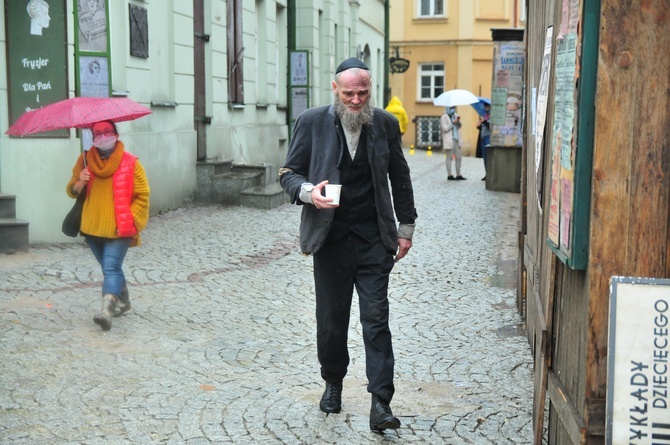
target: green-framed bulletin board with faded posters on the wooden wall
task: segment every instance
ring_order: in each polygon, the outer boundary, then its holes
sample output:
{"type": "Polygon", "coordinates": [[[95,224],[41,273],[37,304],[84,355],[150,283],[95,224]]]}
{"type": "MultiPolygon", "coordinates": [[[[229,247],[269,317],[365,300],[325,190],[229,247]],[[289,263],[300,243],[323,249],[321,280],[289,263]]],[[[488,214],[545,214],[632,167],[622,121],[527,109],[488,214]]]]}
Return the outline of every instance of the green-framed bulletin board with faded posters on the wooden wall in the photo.
{"type": "Polygon", "coordinates": [[[573,269],[588,263],[599,9],[597,0],[562,0],[554,32],[547,243],[573,269]]]}

